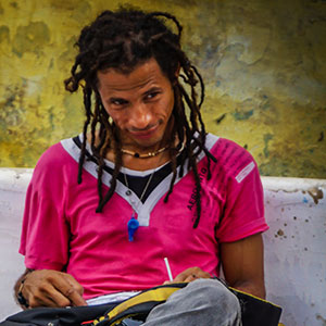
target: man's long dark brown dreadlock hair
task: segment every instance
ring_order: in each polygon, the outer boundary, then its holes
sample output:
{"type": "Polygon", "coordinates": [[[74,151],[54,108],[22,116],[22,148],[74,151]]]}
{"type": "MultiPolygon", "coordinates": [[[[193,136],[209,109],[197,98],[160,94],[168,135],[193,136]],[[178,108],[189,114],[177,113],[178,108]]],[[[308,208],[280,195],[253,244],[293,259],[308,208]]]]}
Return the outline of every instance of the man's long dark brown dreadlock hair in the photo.
{"type": "MultiPolygon", "coordinates": [[[[97,72],[114,68],[122,73],[131,72],[138,64],[155,59],[162,73],[170,79],[175,98],[173,108],[174,125],[170,136],[170,143],[177,138],[185,145],[180,153],[179,176],[184,175],[184,165],[188,160],[188,170],[192,168],[196,181],[197,218],[193,228],[198,226],[201,213],[201,185],[197,170],[197,158],[203,151],[208,156],[208,179],[211,178],[211,160],[215,161],[205,148],[205,127],[200,114],[200,106],[204,99],[204,84],[197,68],[190,63],[180,48],[183,27],[175,16],[166,12],[150,12],[121,8],[116,12],[102,12],[92,24],[86,26],[79,36],[76,46],[79,49],[75,63],[71,70],[71,77],[65,83],[65,89],[75,92],[79,85],[84,92],[86,121],[84,124],[84,139],[82,143],[78,170],[78,184],[82,183],[83,164],[86,156],[87,130],[90,126],[91,150],[99,165],[98,193],[99,204],[97,212],[101,212],[104,204],[111,199],[116,188],[116,178],[122,166],[122,152],[118,130],[106,113],[98,92],[97,72]],[[172,21],[177,28],[173,33],[164,23],[172,21]],[[180,70],[183,83],[176,77],[180,70]],[[198,101],[196,85],[200,83],[201,96],[198,101]],[[184,86],[191,89],[190,95],[184,86]],[[189,109],[188,117],[186,106],[189,109]],[[99,142],[96,143],[96,130],[99,142]],[[114,170],[111,187],[106,193],[102,190],[102,174],[105,166],[104,158],[109,149],[114,151],[114,170]]],[[[176,156],[178,148],[168,148],[172,162],[173,177],[170,189],[164,198],[167,202],[176,179],[176,156]]]]}

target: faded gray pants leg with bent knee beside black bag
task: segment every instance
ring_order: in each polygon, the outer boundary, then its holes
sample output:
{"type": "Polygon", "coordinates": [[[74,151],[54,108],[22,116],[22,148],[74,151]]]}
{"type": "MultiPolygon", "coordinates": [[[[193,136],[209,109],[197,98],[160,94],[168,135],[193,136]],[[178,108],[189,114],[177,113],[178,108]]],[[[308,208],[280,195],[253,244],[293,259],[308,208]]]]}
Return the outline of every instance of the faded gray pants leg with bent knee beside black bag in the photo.
{"type": "Polygon", "coordinates": [[[241,326],[237,297],[216,279],[200,278],[155,306],[145,326],[241,326]]]}

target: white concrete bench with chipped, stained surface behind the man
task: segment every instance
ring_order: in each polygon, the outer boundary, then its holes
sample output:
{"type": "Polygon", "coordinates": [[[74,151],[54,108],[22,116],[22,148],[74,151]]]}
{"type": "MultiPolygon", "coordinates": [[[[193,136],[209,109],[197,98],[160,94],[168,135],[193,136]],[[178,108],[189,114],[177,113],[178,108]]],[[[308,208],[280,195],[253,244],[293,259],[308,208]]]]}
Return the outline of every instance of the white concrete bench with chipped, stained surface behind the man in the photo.
{"type": "MultiPolygon", "coordinates": [[[[0,321],[20,311],[13,285],[24,199],[33,170],[0,168],[0,321]]],[[[326,325],[326,180],[263,177],[267,299],[286,326],[326,325]]]]}

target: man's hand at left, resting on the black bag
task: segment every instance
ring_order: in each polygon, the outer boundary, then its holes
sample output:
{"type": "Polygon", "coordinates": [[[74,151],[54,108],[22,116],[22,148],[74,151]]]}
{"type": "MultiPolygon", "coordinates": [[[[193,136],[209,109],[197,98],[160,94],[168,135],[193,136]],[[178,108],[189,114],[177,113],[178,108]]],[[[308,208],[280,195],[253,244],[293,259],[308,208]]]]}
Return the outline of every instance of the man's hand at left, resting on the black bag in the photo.
{"type": "Polygon", "coordinates": [[[83,292],[72,275],[52,269],[30,272],[22,289],[30,308],[87,305],[83,292]]]}

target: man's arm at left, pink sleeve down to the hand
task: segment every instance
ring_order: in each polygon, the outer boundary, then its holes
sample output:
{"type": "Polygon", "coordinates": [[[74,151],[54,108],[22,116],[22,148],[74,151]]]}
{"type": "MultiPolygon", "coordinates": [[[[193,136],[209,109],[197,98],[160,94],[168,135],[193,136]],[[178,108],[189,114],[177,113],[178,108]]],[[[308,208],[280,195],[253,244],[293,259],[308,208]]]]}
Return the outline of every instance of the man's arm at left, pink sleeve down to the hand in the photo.
{"type": "Polygon", "coordinates": [[[64,212],[70,172],[63,166],[68,164],[58,143],[38,161],[26,192],[20,253],[37,271],[26,269],[14,289],[30,308],[85,304],[83,287],[61,272],[68,263],[71,237],[64,212]]]}

